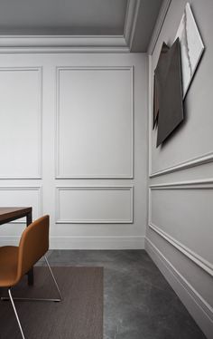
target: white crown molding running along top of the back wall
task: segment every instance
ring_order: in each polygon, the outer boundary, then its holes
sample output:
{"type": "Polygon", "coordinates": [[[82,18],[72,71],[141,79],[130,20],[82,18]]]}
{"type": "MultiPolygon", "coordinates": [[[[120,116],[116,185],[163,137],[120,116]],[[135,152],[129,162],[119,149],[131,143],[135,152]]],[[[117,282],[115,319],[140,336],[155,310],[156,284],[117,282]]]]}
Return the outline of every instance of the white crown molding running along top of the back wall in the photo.
{"type": "Polygon", "coordinates": [[[0,35],[0,53],[128,53],[123,35],[0,35]]]}

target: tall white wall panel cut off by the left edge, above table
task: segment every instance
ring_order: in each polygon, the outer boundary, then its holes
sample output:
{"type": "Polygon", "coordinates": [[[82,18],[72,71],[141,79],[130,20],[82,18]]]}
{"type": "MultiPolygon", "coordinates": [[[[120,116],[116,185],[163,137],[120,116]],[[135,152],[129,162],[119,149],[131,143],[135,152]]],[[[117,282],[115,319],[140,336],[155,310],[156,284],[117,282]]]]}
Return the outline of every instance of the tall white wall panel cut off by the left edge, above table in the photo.
{"type": "Polygon", "coordinates": [[[40,68],[0,68],[0,178],[41,177],[40,68]]]}

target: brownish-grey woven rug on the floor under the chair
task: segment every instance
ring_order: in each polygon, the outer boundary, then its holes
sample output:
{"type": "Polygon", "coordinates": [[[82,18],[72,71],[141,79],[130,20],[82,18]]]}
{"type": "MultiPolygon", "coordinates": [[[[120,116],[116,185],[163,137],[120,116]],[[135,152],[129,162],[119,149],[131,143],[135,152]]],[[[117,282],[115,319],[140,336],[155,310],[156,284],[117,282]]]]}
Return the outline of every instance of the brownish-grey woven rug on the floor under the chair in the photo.
{"type": "MultiPolygon", "coordinates": [[[[53,267],[63,301],[18,302],[16,310],[26,339],[103,339],[103,268],[53,267]]],[[[58,297],[47,267],[34,268],[34,286],[26,277],[13,296],[58,297]]],[[[7,295],[5,288],[1,295],[7,295]]],[[[22,338],[10,302],[0,302],[0,338],[22,338]]]]}

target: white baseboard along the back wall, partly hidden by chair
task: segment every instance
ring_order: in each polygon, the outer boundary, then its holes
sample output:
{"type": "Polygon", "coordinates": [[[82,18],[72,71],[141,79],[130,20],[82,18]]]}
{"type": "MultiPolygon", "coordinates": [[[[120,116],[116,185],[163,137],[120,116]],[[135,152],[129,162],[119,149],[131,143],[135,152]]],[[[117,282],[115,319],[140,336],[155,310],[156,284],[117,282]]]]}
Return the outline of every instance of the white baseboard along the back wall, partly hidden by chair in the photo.
{"type": "MultiPolygon", "coordinates": [[[[0,237],[0,246],[17,246],[19,237],[0,237]]],[[[144,249],[144,237],[50,237],[51,249],[144,249]]]]}

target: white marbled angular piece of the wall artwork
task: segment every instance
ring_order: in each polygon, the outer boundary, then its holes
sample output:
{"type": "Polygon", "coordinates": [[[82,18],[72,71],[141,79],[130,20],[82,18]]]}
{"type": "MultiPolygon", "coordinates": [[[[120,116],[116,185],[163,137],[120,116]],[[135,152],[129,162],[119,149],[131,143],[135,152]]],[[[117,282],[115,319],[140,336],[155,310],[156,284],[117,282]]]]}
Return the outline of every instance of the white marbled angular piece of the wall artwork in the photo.
{"type": "Polygon", "coordinates": [[[184,97],[204,51],[204,45],[189,3],[185,7],[175,40],[178,37],[181,42],[182,92],[184,97]]]}

